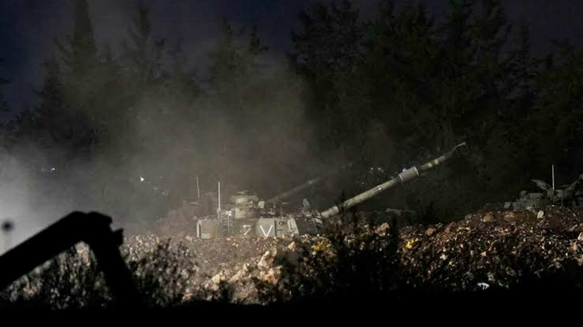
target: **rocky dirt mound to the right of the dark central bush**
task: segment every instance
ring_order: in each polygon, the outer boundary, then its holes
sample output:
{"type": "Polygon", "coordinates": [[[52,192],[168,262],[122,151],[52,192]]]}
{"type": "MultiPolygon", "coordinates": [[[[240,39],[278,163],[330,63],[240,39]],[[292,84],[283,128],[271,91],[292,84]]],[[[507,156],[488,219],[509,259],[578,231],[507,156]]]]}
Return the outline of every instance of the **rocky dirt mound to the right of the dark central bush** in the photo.
{"type": "Polygon", "coordinates": [[[406,228],[403,268],[420,286],[509,287],[583,262],[583,210],[486,212],[449,225],[406,228]],[[430,229],[435,230],[428,236],[430,229]],[[581,236],[580,236],[581,235],[581,236]]]}

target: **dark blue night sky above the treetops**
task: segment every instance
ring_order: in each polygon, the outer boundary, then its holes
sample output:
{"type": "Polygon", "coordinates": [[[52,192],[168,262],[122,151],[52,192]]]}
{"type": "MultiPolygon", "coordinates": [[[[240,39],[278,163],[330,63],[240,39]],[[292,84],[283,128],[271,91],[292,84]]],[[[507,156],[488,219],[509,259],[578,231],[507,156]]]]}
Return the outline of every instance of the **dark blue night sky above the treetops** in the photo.
{"type": "MultiPolygon", "coordinates": [[[[145,1],[152,5],[154,34],[170,41],[184,37],[185,51],[196,65],[213,42],[223,17],[231,22],[257,25],[259,34],[274,56],[283,55],[289,46],[290,30],[297,23],[301,8],[317,0],[198,0],[145,1]]],[[[376,1],[356,1],[363,15],[374,15],[376,1]]],[[[429,10],[440,15],[447,0],[424,0],[429,10]]],[[[0,76],[12,81],[5,87],[5,98],[13,110],[33,105],[31,90],[40,87],[43,61],[54,49],[53,39],[71,32],[72,0],[2,0],[0,1],[0,76]]],[[[90,1],[96,38],[100,45],[113,48],[127,35],[135,1],[90,1]]],[[[512,0],[504,1],[512,23],[524,21],[531,27],[533,51],[550,50],[550,38],[569,39],[583,45],[583,1],[512,0]],[[528,5],[525,5],[528,3],[528,5]]]]}

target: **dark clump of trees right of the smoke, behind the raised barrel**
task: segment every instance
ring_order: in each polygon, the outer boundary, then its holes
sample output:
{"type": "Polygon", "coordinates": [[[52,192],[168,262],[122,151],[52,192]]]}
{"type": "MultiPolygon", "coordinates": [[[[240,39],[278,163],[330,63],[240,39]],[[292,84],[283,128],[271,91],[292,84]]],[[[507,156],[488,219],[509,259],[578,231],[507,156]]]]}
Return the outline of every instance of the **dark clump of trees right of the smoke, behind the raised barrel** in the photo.
{"type": "Polygon", "coordinates": [[[580,50],[536,58],[528,27],[496,0],[451,1],[441,19],[395,7],[381,2],[374,19],[347,1],[301,13],[290,58],[311,83],[324,147],[395,172],[467,141],[465,162],[403,192],[442,215],[514,200],[553,164],[563,183],[580,173],[580,50]]]}

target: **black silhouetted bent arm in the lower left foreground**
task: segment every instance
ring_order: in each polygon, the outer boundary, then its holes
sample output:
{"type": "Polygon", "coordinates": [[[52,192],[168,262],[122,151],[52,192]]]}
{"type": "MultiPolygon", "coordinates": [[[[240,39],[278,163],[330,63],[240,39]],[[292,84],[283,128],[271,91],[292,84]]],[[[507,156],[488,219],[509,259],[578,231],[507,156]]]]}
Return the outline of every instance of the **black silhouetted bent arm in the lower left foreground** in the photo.
{"type": "Polygon", "coordinates": [[[111,230],[111,222],[110,217],[97,212],[65,216],[0,257],[0,289],[84,241],[93,250],[115,300],[127,307],[139,305],[134,281],[118,248],[123,243],[122,230],[111,230]]]}

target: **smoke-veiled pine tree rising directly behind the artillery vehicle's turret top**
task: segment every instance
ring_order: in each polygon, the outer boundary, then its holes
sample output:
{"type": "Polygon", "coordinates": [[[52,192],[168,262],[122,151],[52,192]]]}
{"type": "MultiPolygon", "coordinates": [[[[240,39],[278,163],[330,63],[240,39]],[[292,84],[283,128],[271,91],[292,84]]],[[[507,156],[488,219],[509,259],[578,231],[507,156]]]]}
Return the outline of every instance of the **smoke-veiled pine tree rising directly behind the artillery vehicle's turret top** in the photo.
{"type": "Polygon", "coordinates": [[[241,140],[257,123],[248,117],[256,116],[255,108],[260,106],[255,99],[264,94],[258,93],[258,86],[265,86],[264,71],[259,69],[265,51],[256,30],[236,27],[224,19],[219,37],[207,55],[208,93],[199,110],[200,120],[210,124],[199,127],[198,133],[212,140],[204,144],[212,158],[205,166],[221,167],[223,179],[236,178],[240,167],[229,162],[244,151],[241,140]]]}

